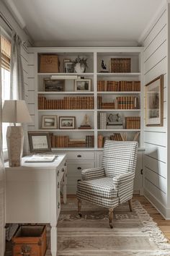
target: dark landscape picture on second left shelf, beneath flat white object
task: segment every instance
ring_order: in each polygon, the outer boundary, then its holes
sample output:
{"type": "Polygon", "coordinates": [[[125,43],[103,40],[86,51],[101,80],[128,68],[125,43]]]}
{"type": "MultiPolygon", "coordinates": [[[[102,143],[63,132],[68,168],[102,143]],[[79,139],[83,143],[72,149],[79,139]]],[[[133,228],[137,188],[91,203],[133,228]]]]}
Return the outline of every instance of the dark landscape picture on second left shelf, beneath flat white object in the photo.
{"type": "Polygon", "coordinates": [[[63,92],[64,91],[65,80],[53,80],[44,79],[44,91],[45,92],[63,92]]]}

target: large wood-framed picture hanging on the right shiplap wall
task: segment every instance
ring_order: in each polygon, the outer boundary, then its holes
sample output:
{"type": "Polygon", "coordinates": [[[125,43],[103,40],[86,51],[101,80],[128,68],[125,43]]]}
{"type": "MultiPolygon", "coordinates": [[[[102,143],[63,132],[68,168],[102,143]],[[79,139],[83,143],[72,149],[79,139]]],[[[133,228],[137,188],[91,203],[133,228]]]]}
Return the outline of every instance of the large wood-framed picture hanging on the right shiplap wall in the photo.
{"type": "Polygon", "coordinates": [[[145,86],[146,126],[163,126],[163,78],[161,74],[145,86]]]}

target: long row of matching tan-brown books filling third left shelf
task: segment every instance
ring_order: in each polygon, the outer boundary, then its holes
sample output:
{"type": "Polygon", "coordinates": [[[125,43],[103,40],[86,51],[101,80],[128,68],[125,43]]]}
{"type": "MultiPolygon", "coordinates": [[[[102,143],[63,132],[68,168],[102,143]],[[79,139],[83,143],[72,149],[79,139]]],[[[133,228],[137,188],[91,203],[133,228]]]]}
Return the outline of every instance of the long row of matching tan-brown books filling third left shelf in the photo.
{"type": "Polygon", "coordinates": [[[94,97],[64,97],[63,99],[46,99],[38,96],[38,109],[94,109],[94,97]]]}

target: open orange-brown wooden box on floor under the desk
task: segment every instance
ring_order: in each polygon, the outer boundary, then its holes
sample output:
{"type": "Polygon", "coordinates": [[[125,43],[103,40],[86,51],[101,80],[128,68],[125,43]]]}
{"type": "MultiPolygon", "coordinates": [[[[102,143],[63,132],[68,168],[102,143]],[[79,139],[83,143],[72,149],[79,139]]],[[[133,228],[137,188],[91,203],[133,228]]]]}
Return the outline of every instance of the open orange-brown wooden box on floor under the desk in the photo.
{"type": "Polygon", "coordinates": [[[20,226],[12,238],[12,256],[44,256],[47,249],[46,226],[20,226]]]}

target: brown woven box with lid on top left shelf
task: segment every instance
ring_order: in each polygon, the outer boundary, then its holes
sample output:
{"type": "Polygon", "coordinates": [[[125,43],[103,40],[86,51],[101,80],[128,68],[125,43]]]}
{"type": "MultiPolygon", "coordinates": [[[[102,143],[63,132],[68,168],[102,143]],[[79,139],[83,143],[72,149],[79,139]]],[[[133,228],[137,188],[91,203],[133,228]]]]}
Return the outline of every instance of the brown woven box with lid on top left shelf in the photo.
{"type": "Polygon", "coordinates": [[[40,54],[39,72],[58,73],[58,56],[55,54],[40,54]]]}

